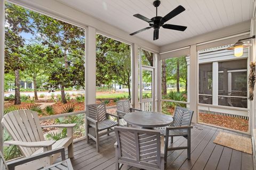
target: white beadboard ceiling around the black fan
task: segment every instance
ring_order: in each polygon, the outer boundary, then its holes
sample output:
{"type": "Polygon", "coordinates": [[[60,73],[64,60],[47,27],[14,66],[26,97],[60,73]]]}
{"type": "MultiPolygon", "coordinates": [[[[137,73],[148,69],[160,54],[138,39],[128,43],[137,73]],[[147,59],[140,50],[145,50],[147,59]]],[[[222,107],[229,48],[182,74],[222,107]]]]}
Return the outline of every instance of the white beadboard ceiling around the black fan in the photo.
{"type": "MultiPolygon", "coordinates": [[[[76,10],[91,15],[129,33],[148,27],[148,23],[133,14],[151,19],[156,15],[154,0],[58,0],[76,10]]],[[[138,33],[137,37],[163,46],[206,32],[217,30],[252,18],[252,0],[162,0],[158,16],[165,16],[178,5],[185,12],[167,21],[169,24],[187,26],[184,32],[161,28],[159,39],[153,41],[153,28],[138,33]]]]}

